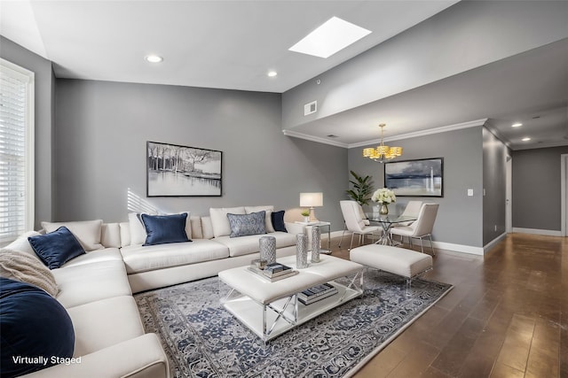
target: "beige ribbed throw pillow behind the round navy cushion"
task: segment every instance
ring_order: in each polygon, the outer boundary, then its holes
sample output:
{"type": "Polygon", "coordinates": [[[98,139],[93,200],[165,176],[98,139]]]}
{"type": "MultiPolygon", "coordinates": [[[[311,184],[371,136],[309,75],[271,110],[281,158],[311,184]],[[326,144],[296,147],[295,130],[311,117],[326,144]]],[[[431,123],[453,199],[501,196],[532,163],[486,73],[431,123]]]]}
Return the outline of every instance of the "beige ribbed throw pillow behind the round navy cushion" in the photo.
{"type": "Polygon", "coordinates": [[[28,282],[46,291],[51,297],[59,291],[51,270],[43,263],[22,251],[0,250],[0,276],[14,281],[28,282]]]}

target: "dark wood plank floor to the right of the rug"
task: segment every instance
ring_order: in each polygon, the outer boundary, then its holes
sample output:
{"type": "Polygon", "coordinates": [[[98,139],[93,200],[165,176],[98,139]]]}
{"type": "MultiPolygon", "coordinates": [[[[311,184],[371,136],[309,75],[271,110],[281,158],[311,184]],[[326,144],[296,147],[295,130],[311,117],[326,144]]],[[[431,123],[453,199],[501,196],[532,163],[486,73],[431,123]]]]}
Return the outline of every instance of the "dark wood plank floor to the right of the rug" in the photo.
{"type": "MultiPolygon", "coordinates": [[[[349,258],[332,239],[333,255],[349,258]]],[[[568,238],[509,234],[485,258],[437,251],[454,289],[356,378],[568,378],[568,238]]]]}

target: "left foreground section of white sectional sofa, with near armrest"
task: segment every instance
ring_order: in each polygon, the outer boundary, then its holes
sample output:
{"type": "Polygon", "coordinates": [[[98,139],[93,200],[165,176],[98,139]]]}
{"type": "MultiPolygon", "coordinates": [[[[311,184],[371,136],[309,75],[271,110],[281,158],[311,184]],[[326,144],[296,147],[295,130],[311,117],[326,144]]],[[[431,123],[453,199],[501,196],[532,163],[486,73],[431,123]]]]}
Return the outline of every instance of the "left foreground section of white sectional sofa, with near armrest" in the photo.
{"type": "MultiPolygon", "coordinates": [[[[10,249],[34,256],[28,235],[12,243],[10,249]]],[[[52,269],[51,274],[59,288],[55,298],[73,323],[75,360],[21,376],[170,377],[160,340],[155,334],[146,334],[142,326],[117,248],[88,251],[52,269]]]]}

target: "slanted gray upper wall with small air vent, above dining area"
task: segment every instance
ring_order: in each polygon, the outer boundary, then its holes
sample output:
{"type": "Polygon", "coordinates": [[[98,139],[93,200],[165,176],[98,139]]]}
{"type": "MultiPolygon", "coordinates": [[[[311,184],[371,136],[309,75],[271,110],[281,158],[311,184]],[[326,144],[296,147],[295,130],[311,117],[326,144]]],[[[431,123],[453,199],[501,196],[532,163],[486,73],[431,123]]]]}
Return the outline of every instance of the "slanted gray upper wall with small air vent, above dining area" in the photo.
{"type": "Polygon", "coordinates": [[[559,41],[568,37],[567,18],[568,2],[454,4],[320,74],[319,85],[309,80],[285,92],[282,127],[323,119],[559,41]],[[304,117],[304,104],[314,100],[318,100],[318,112],[304,117]]]}

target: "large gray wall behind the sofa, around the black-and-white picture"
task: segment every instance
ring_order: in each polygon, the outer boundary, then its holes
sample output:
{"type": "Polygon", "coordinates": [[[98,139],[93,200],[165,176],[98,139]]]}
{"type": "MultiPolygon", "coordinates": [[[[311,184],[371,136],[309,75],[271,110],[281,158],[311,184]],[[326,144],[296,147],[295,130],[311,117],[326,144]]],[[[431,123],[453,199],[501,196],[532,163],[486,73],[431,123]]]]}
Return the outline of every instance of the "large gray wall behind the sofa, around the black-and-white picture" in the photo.
{"type": "Polygon", "coordinates": [[[108,81],[57,81],[55,220],[127,219],[146,198],[146,141],[223,151],[222,197],[151,197],[164,212],[274,204],[322,191],[316,209],[343,228],[347,151],[282,135],[278,94],[108,81]],[[338,174],[340,173],[340,174],[338,174]]]}

